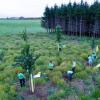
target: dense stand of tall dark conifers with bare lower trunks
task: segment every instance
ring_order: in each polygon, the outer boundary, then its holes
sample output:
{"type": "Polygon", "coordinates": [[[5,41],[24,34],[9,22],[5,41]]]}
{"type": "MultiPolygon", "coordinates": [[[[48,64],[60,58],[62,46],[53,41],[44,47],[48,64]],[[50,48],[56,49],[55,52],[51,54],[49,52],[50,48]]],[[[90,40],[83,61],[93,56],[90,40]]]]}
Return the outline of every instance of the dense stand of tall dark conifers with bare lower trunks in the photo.
{"type": "Polygon", "coordinates": [[[68,35],[100,36],[100,3],[87,2],[62,4],[46,7],[42,17],[42,26],[48,32],[55,32],[57,25],[68,35]]]}

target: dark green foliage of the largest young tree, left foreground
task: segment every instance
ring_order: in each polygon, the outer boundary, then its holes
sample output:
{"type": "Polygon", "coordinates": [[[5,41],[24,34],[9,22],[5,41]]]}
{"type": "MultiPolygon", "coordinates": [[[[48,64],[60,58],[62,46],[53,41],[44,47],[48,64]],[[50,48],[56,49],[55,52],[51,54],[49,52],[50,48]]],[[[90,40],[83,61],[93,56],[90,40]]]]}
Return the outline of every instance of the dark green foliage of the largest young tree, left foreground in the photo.
{"type": "Polygon", "coordinates": [[[38,57],[39,56],[36,56],[30,52],[30,45],[26,44],[21,51],[21,55],[16,57],[15,61],[17,65],[22,66],[25,70],[27,70],[27,72],[31,73],[32,68],[34,69],[34,64],[38,57]]]}

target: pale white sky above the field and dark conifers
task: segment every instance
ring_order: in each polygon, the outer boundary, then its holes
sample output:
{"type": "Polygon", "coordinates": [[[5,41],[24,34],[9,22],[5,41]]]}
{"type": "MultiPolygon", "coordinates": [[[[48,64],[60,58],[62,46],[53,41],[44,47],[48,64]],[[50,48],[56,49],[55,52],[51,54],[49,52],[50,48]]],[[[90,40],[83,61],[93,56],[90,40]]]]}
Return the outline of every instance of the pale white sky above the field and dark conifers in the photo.
{"type": "MultiPolygon", "coordinates": [[[[67,4],[69,1],[81,0],[0,0],[0,18],[3,17],[41,17],[45,7],[54,6],[55,4],[67,4]]],[[[83,0],[92,4],[94,0],[83,0]]],[[[99,0],[100,1],[100,0],[99,0]]]]}

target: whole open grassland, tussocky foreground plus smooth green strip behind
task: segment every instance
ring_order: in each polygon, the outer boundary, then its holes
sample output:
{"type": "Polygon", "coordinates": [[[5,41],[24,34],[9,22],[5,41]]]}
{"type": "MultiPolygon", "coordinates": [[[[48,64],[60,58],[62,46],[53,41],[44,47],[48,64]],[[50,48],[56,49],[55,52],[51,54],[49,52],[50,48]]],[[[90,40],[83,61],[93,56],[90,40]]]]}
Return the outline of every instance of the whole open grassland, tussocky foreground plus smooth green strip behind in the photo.
{"type": "MultiPolygon", "coordinates": [[[[65,48],[57,52],[57,41],[55,34],[47,34],[40,27],[39,20],[0,20],[2,27],[0,36],[0,100],[98,100],[100,97],[100,70],[93,70],[93,67],[86,65],[87,57],[92,53],[91,39],[80,39],[62,35],[61,43],[65,48]],[[18,87],[15,57],[20,56],[25,45],[21,33],[27,26],[28,42],[31,52],[40,57],[35,62],[36,74],[41,71],[48,75],[48,79],[39,78],[35,80],[35,93],[29,93],[29,86],[18,87]],[[4,29],[3,29],[4,27],[4,29]],[[15,28],[15,30],[13,29],[15,28]],[[32,32],[32,34],[30,34],[32,32]],[[35,34],[37,33],[38,34],[35,34]],[[41,34],[42,32],[42,34],[41,34]],[[9,34],[8,34],[9,33],[9,34]],[[11,33],[11,34],[10,34],[11,33]],[[56,65],[53,71],[48,70],[48,63],[52,60],[56,65]],[[76,73],[72,82],[66,82],[63,74],[72,68],[72,61],[76,60],[76,73]],[[96,74],[96,85],[92,81],[92,74],[96,74]],[[42,98],[42,99],[41,99],[42,98]]],[[[1,28],[0,27],[0,28],[1,28]]],[[[95,41],[100,48],[100,39],[95,41]]],[[[94,67],[100,63],[100,50],[97,53],[97,60],[94,67]]],[[[28,81],[28,80],[27,80],[28,81]]]]}

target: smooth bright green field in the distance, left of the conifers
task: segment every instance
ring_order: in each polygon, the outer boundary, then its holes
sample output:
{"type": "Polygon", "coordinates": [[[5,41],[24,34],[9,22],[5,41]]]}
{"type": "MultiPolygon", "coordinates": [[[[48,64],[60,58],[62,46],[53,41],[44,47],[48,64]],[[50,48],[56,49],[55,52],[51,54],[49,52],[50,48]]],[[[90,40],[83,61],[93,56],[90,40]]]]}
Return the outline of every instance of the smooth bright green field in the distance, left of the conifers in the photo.
{"type": "Polygon", "coordinates": [[[27,30],[28,33],[45,32],[41,27],[41,20],[0,20],[0,34],[22,33],[27,30]]]}

